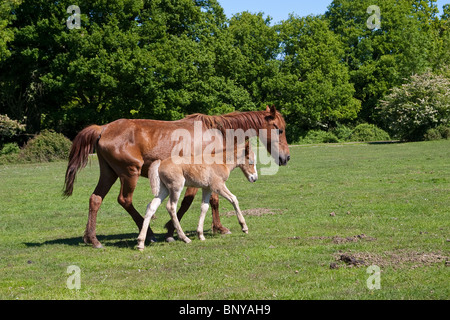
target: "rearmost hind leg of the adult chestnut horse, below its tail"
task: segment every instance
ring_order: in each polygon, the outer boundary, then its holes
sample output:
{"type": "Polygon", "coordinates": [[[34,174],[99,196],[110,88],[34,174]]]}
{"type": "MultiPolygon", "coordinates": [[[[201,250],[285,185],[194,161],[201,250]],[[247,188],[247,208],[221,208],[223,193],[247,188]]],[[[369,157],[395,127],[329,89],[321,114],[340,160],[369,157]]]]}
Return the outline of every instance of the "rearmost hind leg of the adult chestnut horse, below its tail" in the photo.
{"type": "Polygon", "coordinates": [[[98,161],[100,164],[100,178],[97,187],[89,198],[89,217],[83,236],[84,242],[86,244],[92,244],[94,248],[102,247],[96,236],[98,210],[106,194],[117,180],[117,174],[100,155],[98,155],[98,161]]]}

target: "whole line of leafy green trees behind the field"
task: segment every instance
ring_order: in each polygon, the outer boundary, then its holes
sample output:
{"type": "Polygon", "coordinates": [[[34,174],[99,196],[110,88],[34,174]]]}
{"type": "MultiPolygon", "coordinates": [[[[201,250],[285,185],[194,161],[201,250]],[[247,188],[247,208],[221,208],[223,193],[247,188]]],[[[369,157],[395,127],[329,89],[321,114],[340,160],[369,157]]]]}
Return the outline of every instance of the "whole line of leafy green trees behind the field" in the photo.
{"type": "Polygon", "coordinates": [[[272,104],[291,142],[341,124],[387,128],[383,97],[450,65],[449,17],[435,0],[334,0],[323,15],[274,24],[263,13],[227,18],[217,0],[6,0],[0,114],[70,138],[119,118],[272,104]],[[369,28],[374,4],[380,25],[369,28]]]}

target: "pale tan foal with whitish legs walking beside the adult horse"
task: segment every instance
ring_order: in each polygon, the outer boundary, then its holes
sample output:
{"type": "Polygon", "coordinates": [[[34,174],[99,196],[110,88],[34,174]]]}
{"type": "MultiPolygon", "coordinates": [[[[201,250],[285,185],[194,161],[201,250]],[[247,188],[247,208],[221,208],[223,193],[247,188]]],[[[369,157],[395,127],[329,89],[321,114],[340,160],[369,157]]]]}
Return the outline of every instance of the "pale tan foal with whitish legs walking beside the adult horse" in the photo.
{"type": "MultiPolygon", "coordinates": [[[[181,229],[180,221],[176,214],[178,200],[184,186],[202,188],[201,214],[197,228],[197,234],[200,240],[205,240],[203,224],[206,212],[209,209],[209,199],[213,192],[231,202],[236,210],[242,231],[248,233],[248,227],[239,208],[238,200],[228,190],[225,181],[228,180],[233,169],[240,167],[248,181],[255,182],[258,179],[255,154],[250,148],[249,141],[247,141],[245,147],[242,145],[234,147],[234,151],[231,153],[232,159],[230,159],[230,155],[227,155],[226,152],[222,152],[222,155],[223,163],[205,164],[201,161],[202,159],[197,159],[200,161],[194,161],[194,157],[181,158],[183,161],[180,164],[174,163],[172,158],[167,158],[163,161],[157,160],[152,163],[149,169],[149,179],[155,198],[147,206],[143,227],[138,237],[137,248],[139,250],[144,250],[144,242],[150,219],[167,196],[169,196],[167,211],[169,211],[178,236],[186,243],[191,242],[181,229]]],[[[220,154],[218,156],[220,157],[220,154]]]]}

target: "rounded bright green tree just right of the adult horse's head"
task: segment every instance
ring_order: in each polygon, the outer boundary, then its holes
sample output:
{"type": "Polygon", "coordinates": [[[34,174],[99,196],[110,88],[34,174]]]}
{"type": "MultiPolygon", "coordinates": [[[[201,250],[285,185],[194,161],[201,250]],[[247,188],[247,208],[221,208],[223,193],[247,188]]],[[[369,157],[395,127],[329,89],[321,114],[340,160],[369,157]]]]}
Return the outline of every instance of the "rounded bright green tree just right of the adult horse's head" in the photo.
{"type": "Polygon", "coordinates": [[[281,72],[272,85],[278,89],[274,99],[283,105],[291,134],[355,119],[360,102],[353,98],[354,88],[342,62],[343,45],[323,16],[291,15],[278,29],[281,72]]]}

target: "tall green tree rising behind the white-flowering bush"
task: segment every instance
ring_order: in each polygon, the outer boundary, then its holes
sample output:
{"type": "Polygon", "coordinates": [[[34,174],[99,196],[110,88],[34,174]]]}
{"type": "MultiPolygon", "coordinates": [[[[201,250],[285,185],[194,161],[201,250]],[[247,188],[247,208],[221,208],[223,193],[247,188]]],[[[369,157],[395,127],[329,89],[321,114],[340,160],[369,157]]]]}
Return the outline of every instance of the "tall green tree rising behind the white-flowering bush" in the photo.
{"type": "Polygon", "coordinates": [[[376,121],[378,100],[412,74],[432,66],[435,0],[380,0],[381,27],[369,29],[367,8],[373,1],[334,0],[325,16],[345,45],[355,97],[362,101],[360,118],[376,121]]]}

